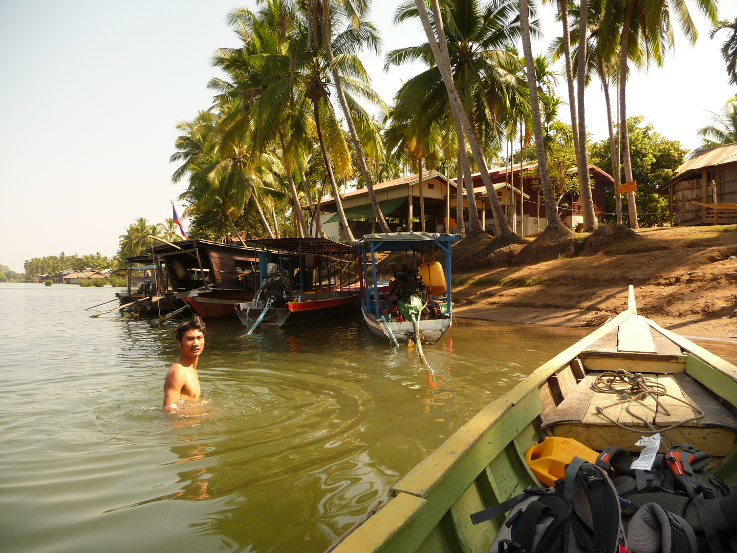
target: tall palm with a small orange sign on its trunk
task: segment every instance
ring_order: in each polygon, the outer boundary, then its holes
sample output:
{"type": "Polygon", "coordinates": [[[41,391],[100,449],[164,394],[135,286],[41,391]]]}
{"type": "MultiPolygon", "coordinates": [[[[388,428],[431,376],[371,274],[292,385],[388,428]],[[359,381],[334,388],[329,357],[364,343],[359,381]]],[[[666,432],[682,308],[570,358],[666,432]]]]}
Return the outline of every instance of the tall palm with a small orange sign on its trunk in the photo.
{"type": "MultiPolygon", "coordinates": [[[[699,10],[716,23],[717,0],[694,0],[699,10]]],[[[629,155],[629,130],[627,129],[626,85],[627,58],[637,55],[638,50],[647,52],[648,60],[657,66],[664,62],[666,49],[674,45],[671,26],[671,6],[681,31],[690,44],[696,44],[699,33],[686,0],[620,0],[607,2],[604,10],[602,32],[604,50],[612,52],[619,49],[619,128],[621,129],[624,175],[632,181],[632,159],[629,155]],[[623,8],[624,7],[624,12],[623,8]],[[620,23],[621,22],[621,23],[620,23]],[[615,29],[621,29],[617,40],[615,29]]],[[[637,219],[635,192],[627,194],[629,204],[629,223],[633,229],[640,228],[637,219]]]]}

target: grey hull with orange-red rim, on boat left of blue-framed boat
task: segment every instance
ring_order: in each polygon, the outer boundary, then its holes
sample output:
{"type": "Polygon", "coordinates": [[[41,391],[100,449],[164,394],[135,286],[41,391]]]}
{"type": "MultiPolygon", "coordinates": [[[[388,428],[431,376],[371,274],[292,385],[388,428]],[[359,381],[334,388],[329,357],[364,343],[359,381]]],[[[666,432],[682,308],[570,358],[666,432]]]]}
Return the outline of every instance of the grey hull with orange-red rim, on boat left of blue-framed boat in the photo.
{"type": "MultiPolygon", "coordinates": [[[[358,295],[355,292],[345,296],[310,299],[304,302],[287,302],[284,307],[269,307],[261,320],[261,325],[281,327],[282,324],[296,324],[307,321],[318,321],[337,317],[355,310],[358,295]]],[[[237,306],[238,318],[243,324],[251,324],[260,314],[261,309],[253,307],[252,302],[237,306]]]]}

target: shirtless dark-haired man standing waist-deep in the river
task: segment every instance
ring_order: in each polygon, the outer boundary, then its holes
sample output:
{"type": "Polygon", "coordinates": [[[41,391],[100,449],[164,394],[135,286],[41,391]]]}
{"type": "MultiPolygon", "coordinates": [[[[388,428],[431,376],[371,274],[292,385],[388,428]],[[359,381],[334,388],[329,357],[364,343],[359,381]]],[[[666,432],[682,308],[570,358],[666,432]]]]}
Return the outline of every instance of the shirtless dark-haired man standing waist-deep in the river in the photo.
{"type": "Polygon", "coordinates": [[[195,315],[177,327],[177,347],[179,358],[164,380],[164,409],[176,408],[179,400],[200,398],[197,361],[205,347],[205,323],[201,317],[195,315]]]}

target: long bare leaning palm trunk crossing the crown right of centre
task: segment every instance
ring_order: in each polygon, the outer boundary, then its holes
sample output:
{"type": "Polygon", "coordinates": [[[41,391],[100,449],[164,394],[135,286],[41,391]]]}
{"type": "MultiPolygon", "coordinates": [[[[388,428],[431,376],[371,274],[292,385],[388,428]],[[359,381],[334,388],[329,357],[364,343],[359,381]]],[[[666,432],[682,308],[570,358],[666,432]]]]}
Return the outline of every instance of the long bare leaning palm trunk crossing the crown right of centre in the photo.
{"type": "MultiPolygon", "coordinates": [[[[481,171],[481,180],[486,186],[486,195],[489,196],[489,201],[491,201],[492,204],[492,212],[494,213],[494,224],[496,226],[497,234],[514,235],[511,226],[509,226],[509,222],[506,220],[502,205],[499,203],[499,199],[494,191],[494,184],[492,184],[492,179],[489,177],[489,170],[486,167],[486,160],[483,157],[483,151],[481,150],[481,145],[478,142],[478,136],[475,133],[475,129],[472,128],[472,125],[469,122],[463,103],[461,102],[461,97],[458,95],[458,90],[455,88],[455,83],[453,82],[450,55],[448,55],[448,45],[445,39],[443,20],[441,18],[438,0],[433,0],[433,15],[435,17],[435,24],[438,32],[437,40],[435,33],[433,33],[433,28],[430,27],[430,18],[427,17],[427,8],[425,7],[424,1],[415,0],[415,4],[419,17],[422,20],[422,27],[425,29],[425,35],[427,35],[427,42],[430,44],[430,49],[433,51],[433,57],[435,58],[436,65],[438,66],[441,77],[443,77],[443,83],[445,84],[445,88],[448,92],[450,111],[453,114],[453,120],[455,121],[456,133],[458,133],[459,127],[461,128],[461,135],[463,132],[466,133],[473,153],[473,158],[478,165],[479,171],[481,171]]],[[[461,150],[460,147],[458,149],[461,150]]],[[[463,156],[461,156],[461,158],[462,157],[463,156]]],[[[473,189],[473,185],[470,184],[470,186],[471,189],[473,189]]],[[[471,193],[471,196],[469,197],[469,202],[472,198],[473,193],[471,193]]],[[[478,213],[475,216],[478,219],[478,213]]],[[[469,223],[472,221],[471,217],[472,215],[470,215],[469,210],[469,223]]],[[[478,228],[481,229],[481,222],[478,223],[478,228]]]]}

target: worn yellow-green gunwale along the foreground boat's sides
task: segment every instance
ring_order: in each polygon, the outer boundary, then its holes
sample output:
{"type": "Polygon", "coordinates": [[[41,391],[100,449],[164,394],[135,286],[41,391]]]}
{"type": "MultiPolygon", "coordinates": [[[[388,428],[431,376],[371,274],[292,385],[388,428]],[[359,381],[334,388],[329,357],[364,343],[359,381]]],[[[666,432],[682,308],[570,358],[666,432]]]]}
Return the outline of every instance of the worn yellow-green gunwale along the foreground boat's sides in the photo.
{"type": "MultiPolygon", "coordinates": [[[[417,549],[446,513],[452,509],[461,495],[472,486],[478,475],[483,473],[489,463],[510,444],[514,444],[514,438],[533,424],[542,413],[539,394],[532,394],[532,392],[539,389],[548,378],[565,368],[570,361],[599,338],[619,327],[629,317],[638,316],[637,307],[633,301],[632,286],[629,288],[629,296],[630,302],[627,310],[539,366],[525,380],[514,386],[514,389],[489,403],[446,439],[439,448],[409,470],[390,488],[391,497],[377,509],[377,512],[362,524],[340,536],[329,551],[347,553],[380,550],[414,551],[417,549]],[[505,424],[509,426],[509,429],[502,428],[505,424]],[[499,434],[500,428],[507,430],[503,433],[505,437],[509,434],[511,437],[504,439],[502,436],[493,436],[493,434],[499,434]],[[492,438],[496,439],[492,442],[492,438]],[[480,453],[483,459],[476,462],[472,459],[471,453],[480,453]],[[470,463],[473,470],[458,470],[459,465],[464,463],[470,463]],[[473,476],[470,477],[469,474],[473,476]],[[408,504],[413,506],[411,512],[397,513],[399,505],[393,502],[400,500],[399,503],[405,504],[406,501],[401,501],[405,496],[413,496],[425,502],[409,502],[408,504]]],[[[688,338],[663,329],[649,319],[643,319],[657,332],[670,338],[688,353],[686,372],[702,386],[724,397],[725,391],[718,383],[711,383],[710,386],[709,382],[702,380],[705,374],[709,375],[708,369],[712,369],[712,376],[719,375],[717,380],[727,378],[737,383],[737,366],[699,347],[688,338]],[[692,360],[690,363],[689,359],[692,360]]],[[[732,392],[729,391],[729,394],[731,395],[732,392]]],[[[734,394],[737,396],[737,392],[734,394]]],[[[724,399],[733,403],[730,397],[724,397],[724,399]]],[[[716,468],[715,473],[718,476],[719,469],[722,469],[721,472],[727,469],[737,470],[737,446],[716,468]]],[[[500,498],[499,501],[503,499],[500,498]]]]}

